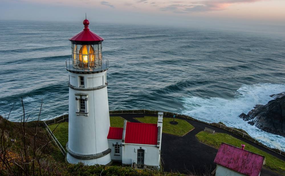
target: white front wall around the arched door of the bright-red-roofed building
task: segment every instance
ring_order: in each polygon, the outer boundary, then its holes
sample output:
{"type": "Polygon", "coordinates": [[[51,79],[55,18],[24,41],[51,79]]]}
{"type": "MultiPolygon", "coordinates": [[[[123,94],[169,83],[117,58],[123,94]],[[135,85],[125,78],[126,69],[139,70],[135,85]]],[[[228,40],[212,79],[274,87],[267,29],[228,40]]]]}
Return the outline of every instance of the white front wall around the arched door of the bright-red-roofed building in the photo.
{"type": "Polygon", "coordinates": [[[149,166],[159,166],[160,150],[156,145],[125,144],[122,146],[122,164],[137,163],[137,150],[144,149],[144,164],[149,166]]]}

